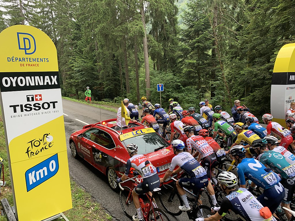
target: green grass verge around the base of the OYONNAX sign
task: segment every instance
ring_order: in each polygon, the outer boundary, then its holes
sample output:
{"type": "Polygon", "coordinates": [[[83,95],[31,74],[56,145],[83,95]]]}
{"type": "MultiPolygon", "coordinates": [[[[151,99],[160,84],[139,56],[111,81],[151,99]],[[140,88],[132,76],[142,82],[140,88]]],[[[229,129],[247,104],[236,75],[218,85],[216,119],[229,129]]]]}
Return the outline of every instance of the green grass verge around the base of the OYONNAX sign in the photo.
{"type": "MultiPolygon", "coordinates": [[[[5,134],[2,122],[2,114],[0,109],[0,157],[4,159],[4,179],[6,186],[1,187],[1,199],[7,198],[10,205],[13,205],[12,188],[9,175],[5,134]]],[[[2,180],[2,174],[1,174],[2,180]]],[[[73,208],[63,212],[68,220],[71,221],[108,221],[112,220],[112,216],[107,214],[100,204],[94,202],[91,195],[85,190],[81,189],[76,182],[71,181],[71,194],[73,208]]],[[[1,204],[0,204],[0,209],[1,204]]],[[[61,221],[63,219],[55,219],[61,221]]],[[[6,216],[0,216],[0,221],[7,221],[6,216]]]]}

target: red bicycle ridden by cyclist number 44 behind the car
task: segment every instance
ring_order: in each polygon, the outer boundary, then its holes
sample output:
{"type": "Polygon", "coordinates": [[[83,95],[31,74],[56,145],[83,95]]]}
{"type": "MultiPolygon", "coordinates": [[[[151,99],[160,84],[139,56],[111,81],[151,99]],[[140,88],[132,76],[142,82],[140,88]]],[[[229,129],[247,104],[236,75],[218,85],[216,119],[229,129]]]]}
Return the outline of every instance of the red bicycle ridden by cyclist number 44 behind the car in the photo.
{"type": "MultiPolygon", "coordinates": [[[[137,176],[135,176],[125,180],[124,182],[119,183],[119,187],[121,189],[119,194],[120,204],[124,213],[127,215],[127,217],[132,219],[132,216],[134,215],[134,211],[135,211],[134,210],[135,207],[132,202],[133,201],[132,191],[137,186],[137,184],[140,183],[140,180],[137,178],[137,176]],[[124,183],[127,181],[133,181],[131,189],[126,186],[124,187],[121,186],[121,183],[124,183]]],[[[139,197],[142,218],[145,221],[171,221],[168,215],[163,210],[159,209],[158,207],[154,208],[152,206],[152,202],[154,202],[154,195],[156,192],[160,190],[161,190],[160,188],[155,188],[152,192],[152,196],[150,196],[148,193],[145,193],[141,197],[139,197]]]]}

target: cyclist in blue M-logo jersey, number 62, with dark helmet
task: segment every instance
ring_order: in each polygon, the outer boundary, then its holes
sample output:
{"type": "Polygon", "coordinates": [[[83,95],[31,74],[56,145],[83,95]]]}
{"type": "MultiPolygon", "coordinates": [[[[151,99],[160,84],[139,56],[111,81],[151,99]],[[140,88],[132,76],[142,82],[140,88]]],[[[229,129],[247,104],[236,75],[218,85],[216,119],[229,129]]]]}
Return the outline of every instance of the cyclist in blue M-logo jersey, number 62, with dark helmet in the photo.
{"type": "Polygon", "coordinates": [[[237,174],[240,178],[240,187],[246,188],[245,177],[252,181],[249,191],[254,190],[255,185],[264,189],[257,200],[273,213],[285,196],[285,190],[280,183],[280,177],[271,169],[253,158],[246,158],[246,150],[242,145],[233,146],[230,154],[234,157],[237,165],[237,174]]]}

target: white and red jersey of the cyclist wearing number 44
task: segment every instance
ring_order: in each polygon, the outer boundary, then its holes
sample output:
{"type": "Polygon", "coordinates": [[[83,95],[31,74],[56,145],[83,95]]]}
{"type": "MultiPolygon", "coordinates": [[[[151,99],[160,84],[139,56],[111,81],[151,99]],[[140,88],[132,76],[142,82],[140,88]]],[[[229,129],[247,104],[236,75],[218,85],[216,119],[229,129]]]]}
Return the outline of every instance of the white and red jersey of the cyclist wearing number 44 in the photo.
{"type": "Polygon", "coordinates": [[[157,174],[157,169],[142,154],[136,154],[127,160],[125,175],[128,176],[130,169],[134,168],[142,178],[151,177],[157,174]]]}

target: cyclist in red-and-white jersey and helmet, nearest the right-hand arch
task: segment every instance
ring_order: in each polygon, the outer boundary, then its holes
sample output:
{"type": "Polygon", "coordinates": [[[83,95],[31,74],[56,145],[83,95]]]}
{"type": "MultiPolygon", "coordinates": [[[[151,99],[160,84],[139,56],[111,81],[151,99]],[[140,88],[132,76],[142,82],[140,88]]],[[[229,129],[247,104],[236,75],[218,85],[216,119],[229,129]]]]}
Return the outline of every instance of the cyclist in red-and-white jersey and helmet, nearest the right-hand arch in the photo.
{"type": "Polygon", "coordinates": [[[283,128],[277,122],[272,122],[271,121],[272,119],[273,119],[273,116],[269,113],[266,113],[262,116],[263,122],[265,124],[267,124],[267,126],[266,126],[267,135],[271,135],[271,131],[273,131],[273,133],[277,134],[278,136],[280,136],[282,138],[281,139],[281,146],[283,146],[287,149],[288,146],[290,144],[292,144],[292,142],[293,142],[293,138],[291,136],[291,131],[289,131],[286,128],[283,128]]]}

